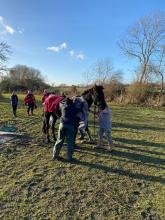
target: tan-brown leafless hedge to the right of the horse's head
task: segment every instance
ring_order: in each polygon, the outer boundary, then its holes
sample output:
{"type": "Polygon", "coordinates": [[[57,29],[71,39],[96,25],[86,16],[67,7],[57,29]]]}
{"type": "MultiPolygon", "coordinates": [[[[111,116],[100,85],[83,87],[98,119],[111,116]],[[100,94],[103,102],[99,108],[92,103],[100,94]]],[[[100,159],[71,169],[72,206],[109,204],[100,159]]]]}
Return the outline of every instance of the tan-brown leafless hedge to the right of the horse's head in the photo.
{"type": "Polygon", "coordinates": [[[165,106],[165,93],[160,93],[158,85],[155,84],[135,82],[130,85],[108,84],[104,87],[109,101],[145,106],[165,106]]]}

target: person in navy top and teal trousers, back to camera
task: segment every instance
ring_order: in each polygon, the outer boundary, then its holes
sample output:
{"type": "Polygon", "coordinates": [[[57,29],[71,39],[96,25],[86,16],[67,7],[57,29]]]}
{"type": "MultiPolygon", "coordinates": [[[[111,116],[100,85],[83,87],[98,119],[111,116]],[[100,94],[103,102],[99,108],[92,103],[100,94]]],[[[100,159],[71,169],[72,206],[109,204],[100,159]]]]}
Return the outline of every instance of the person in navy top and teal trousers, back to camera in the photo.
{"type": "Polygon", "coordinates": [[[66,104],[60,104],[61,117],[58,130],[58,138],[53,149],[53,159],[60,159],[59,154],[64,140],[67,141],[67,160],[72,161],[74,151],[74,138],[76,126],[76,114],[80,111],[70,98],[66,98],[66,104]]]}

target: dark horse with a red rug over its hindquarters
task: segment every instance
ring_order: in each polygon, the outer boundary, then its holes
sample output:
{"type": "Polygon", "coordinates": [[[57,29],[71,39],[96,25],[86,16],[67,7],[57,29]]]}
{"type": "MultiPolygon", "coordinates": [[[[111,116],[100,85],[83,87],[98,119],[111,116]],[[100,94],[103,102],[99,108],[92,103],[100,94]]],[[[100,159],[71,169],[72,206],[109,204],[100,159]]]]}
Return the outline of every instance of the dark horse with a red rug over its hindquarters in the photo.
{"type": "MultiPolygon", "coordinates": [[[[103,87],[101,85],[94,85],[92,88],[85,90],[81,96],[88,104],[88,109],[94,103],[96,106],[104,109],[106,107],[106,101],[104,98],[103,87]]],[[[45,99],[45,111],[44,111],[44,119],[43,119],[43,127],[42,131],[46,135],[47,143],[50,143],[50,117],[52,118],[51,129],[54,141],[56,141],[55,135],[55,123],[57,118],[60,117],[60,103],[65,103],[66,96],[57,96],[57,95],[49,95],[45,99]]],[[[76,100],[76,99],[75,99],[76,100]]],[[[89,134],[88,127],[86,127],[87,134],[89,134]]]]}

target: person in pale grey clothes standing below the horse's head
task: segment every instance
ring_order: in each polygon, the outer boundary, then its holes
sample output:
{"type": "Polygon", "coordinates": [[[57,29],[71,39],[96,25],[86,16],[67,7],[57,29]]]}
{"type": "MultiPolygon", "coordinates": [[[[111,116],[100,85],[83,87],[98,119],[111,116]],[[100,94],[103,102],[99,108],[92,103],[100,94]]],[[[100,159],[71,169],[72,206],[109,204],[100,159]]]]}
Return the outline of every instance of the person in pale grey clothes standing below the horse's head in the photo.
{"type": "Polygon", "coordinates": [[[99,120],[98,143],[95,148],[102,147],[103,135],[105,133],[108,143],[107,150],[111,151],[113,147],[112,137],[111,137],[111,111],[107,105],[104,109],[99,108],[98,120],[99,120]]]}

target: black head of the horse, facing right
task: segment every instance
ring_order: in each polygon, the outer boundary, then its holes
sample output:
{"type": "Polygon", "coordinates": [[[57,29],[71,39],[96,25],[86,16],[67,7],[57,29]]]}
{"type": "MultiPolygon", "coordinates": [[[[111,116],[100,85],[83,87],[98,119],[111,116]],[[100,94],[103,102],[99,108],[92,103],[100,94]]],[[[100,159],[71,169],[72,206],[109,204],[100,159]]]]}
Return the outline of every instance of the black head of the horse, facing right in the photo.
{"type": "Polygon", "coordinates": [[[92,98],[95,105],[101,109],[105,109],[106,101],[104,98],[103,86],[94,85],[92,88],[92,98]]]}

